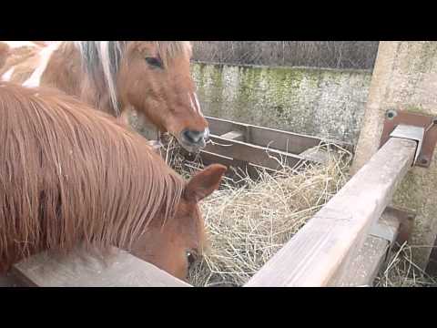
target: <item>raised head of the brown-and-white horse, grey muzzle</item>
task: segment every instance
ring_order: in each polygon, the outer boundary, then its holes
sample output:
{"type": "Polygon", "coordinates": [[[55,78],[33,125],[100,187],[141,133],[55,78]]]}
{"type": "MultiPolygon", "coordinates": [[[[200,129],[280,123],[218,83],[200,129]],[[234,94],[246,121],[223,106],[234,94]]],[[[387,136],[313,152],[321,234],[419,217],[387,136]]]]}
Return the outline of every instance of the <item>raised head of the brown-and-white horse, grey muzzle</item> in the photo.
{"type": "Polygon", "coordinates": [[[188,151],[197,151],[205,147],[209,130],[191,77],[190,56],[188,42],[128,42],[117,85],[124,104],[168,131],[188,151]]]}

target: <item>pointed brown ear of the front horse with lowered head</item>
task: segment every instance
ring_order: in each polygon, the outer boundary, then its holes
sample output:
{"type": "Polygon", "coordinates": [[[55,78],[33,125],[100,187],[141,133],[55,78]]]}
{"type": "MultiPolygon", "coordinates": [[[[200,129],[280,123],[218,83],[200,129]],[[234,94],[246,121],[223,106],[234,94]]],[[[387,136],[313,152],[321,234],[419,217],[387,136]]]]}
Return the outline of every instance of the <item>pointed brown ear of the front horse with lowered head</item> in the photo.
{"type": "Polygon", "coordinates": [[[189,179],[184,190],[184,198],[188,201],[203,200],[214,190],[219,189],[220,180],[228,168],[221,164],[212,164],[189,179]]]}

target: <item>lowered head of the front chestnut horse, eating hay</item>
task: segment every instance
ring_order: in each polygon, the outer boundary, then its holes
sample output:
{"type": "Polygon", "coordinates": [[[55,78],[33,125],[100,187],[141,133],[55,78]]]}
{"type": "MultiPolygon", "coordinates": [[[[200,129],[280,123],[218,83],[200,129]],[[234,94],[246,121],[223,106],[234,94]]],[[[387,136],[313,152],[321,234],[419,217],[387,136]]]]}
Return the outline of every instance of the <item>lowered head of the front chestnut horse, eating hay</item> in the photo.
{"type": "Polygon", "coordinates": [[[204,220],[198,208],[203,200],[219,188],[226,167],[214,164],[198,172],[185,186],[174,218],[151,224],[134,244],[132,253],[158,268],[187,280],[188,269],[205,247],[204,220]]]}

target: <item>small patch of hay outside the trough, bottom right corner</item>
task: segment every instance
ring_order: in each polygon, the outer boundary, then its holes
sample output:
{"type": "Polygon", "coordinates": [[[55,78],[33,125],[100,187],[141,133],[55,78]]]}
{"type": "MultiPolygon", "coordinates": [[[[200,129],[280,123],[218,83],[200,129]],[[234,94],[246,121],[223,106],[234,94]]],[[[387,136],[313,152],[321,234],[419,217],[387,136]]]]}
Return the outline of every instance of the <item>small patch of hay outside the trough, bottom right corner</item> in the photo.
{"type": "Polygon", "coordinates": [[[387,265],[375,280],[376,287],[437,287],[432,277],[412,261],[412,248],[407,243],[393,251],[387,265]]]}

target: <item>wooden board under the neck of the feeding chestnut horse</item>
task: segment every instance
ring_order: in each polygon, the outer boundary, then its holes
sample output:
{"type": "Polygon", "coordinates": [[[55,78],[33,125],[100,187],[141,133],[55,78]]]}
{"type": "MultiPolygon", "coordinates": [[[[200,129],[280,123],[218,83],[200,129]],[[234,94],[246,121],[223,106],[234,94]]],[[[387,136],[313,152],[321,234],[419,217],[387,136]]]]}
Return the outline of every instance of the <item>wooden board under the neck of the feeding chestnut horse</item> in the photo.
{"type": "Polygon", "coordinates": [[[105,259],[84,251],[42,252],[14,265],[11,272],[39,287],[189,287],[186,282],[137,257],[114,249],[105,259]]]}

